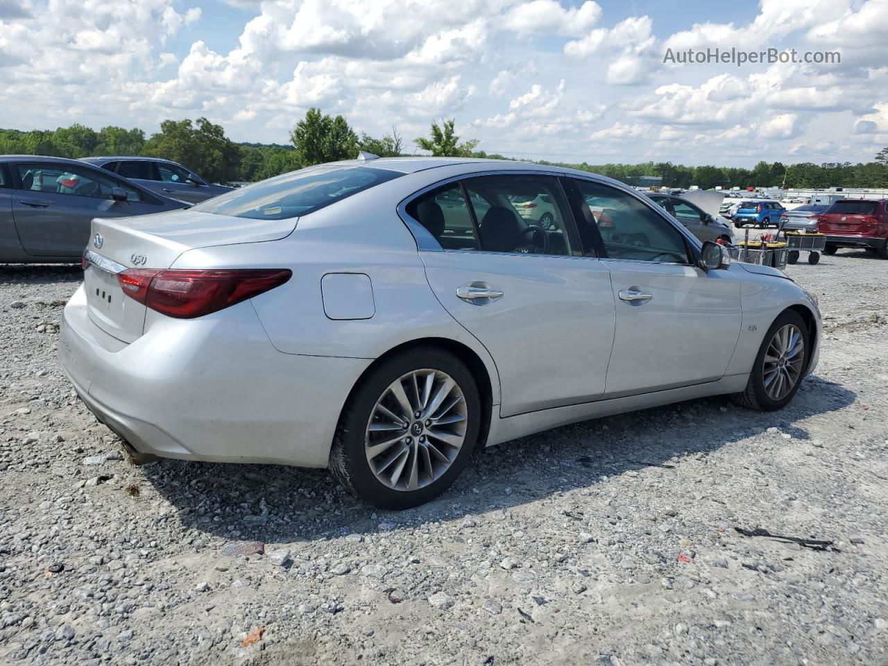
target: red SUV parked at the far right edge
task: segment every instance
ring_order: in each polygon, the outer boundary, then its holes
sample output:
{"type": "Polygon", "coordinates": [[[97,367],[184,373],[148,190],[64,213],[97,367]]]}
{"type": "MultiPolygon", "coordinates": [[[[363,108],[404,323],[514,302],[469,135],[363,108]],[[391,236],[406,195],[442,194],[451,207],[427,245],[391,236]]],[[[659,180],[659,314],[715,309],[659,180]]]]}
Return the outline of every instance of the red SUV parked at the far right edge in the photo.
{"type": "Polygon", "coordinates": [[[888,259],[888,199],[839,199],[821,213],[817,229],[826,234],[827,254],[866,248],[888,259]]]}

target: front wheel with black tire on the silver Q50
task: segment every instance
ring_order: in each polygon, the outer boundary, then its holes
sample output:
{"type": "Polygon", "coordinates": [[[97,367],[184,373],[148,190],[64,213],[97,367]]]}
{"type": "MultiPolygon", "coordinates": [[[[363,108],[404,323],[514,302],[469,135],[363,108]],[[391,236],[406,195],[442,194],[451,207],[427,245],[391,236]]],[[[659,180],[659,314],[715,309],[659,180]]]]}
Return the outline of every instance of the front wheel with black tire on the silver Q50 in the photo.
{"type": "Polygon", "coordinates": [[[796,395],[798,387],[802,384],[802,379],[805,378],[805,369],[808,367],[808,357],[811,353],[809,345],[808,327],[802,316],[794,310],[786,310],[781,313],[765,333],[762,345],[756,354],[752,372],[749,373],[746,389],[743,392],[735,393],[734,400],[742,407],[757,411],[773,411],[783,408],[796,395]],[[785,334],[787,330],[789,337],[785,334]],[[780,338],[777,337],[778,333],[780,333],[780,338]],[[799,337],[798,340],[796,340],[796,335],[799,337]],[[786,349],[788,343],[793,346],[786,349]],[[801,348],[796,353],[792,353],[796,344],[800,344],[801,348]],[[786,353],[774,354],[774,352],[780,352],[781,349],[786,349],[786,353]],[[769,352],[771,353],[769,354],[769,352]],[[765,356],[778,359],[778,361],[766,361],[765,356]],[[785,358],[787,361],[780,363],[779,359],[781,358],[785,358]],[[778,379],[780,379],[781,385],[775,385],[778,379]],[[788,390],[785,390],[784,382],[791,382],[788,390]]]}

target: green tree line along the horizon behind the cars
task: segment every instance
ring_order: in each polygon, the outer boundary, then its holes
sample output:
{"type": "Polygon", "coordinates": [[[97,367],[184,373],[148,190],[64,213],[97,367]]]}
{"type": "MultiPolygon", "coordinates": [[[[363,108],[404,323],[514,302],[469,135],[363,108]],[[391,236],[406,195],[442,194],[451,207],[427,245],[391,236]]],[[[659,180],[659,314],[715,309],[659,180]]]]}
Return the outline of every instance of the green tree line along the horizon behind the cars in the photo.
{"type": "MultiPolygon", "coordinates": [[[[436,156],[488,157],[513,159],[476,150],[475,139],[460,141],[453,119],[432,122],[428,137],[414,140],[416,149],[436,156]]],[[[310,108],[290,132],[290,143],[235,143],[226,137],[221,125],[206,118],[161,123],[160,131],[147,137],[139,129],[108,126],[99,131],[75,123],[54,131],[0,130],[2,155],[143,155],[162,157],[184,164],[211,181],[257,181],[313,164],[352,159],[363,150],[380,157],[408,156],[397,127],[382,138],[357,132],[342,115],[326,115],[310,108]]],[[[869,163],[798,163],[759,162],[752,169],[685,166],[670,162],[626,163],[551,163],[593,171],[629,184],[642,176],[662,178],[669,187],[703,189],[715,186],[888,187],[888,147],[869,163]]]]}

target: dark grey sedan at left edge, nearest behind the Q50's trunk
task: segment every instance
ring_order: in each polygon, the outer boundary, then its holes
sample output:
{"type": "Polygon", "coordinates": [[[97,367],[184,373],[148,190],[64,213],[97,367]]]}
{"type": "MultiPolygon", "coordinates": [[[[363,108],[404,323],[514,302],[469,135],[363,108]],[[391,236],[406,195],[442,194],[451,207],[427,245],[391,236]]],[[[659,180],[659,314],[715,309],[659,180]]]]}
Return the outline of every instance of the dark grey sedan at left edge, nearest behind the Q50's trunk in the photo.
{"type": "Polygon", "coordinates": [[[62,157],[0,156],[0,263],[79,262],[93,218],[185,208],[126,178],[62,157]]]}

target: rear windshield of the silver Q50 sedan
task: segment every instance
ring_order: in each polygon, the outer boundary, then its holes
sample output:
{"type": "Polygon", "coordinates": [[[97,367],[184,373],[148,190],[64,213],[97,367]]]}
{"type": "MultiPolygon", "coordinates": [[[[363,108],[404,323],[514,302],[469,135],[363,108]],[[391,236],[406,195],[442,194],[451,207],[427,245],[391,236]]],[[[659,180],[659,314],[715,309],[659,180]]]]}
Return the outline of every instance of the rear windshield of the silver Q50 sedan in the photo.
{"type": "Polygon", "coordinates": [[[220,194],[191,210],[233,218],[297,218],[403,175],[371,167],[309,167],[220,194]]]}

